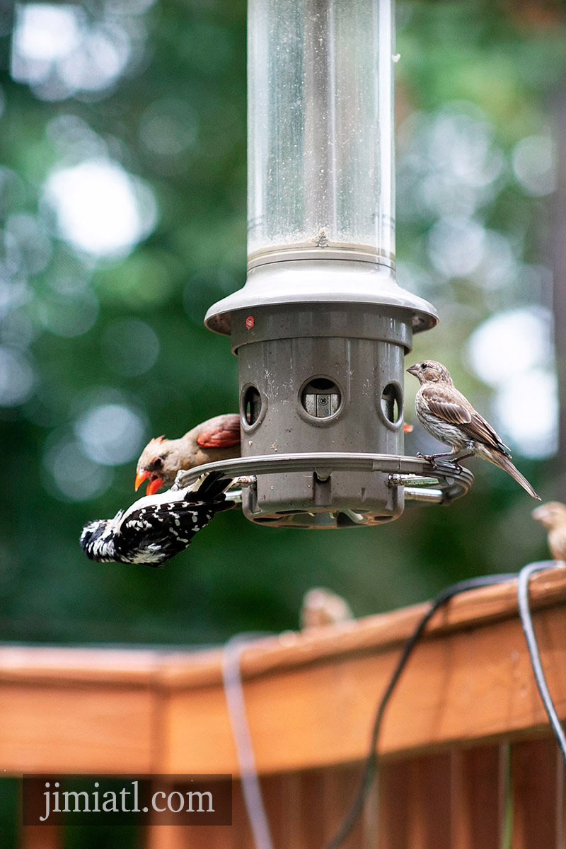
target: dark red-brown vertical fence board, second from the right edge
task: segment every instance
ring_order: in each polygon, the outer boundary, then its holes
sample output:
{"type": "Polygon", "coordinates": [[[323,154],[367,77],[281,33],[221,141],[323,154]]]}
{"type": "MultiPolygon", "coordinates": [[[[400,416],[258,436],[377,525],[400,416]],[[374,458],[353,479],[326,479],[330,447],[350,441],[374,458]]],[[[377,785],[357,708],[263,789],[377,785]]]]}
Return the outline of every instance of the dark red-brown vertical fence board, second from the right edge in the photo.
{"type": "Polygon", "coordinates": [[[505,814],[505,753],[477,746],[451,753],[451,849],[500,849],[505,814]]]}

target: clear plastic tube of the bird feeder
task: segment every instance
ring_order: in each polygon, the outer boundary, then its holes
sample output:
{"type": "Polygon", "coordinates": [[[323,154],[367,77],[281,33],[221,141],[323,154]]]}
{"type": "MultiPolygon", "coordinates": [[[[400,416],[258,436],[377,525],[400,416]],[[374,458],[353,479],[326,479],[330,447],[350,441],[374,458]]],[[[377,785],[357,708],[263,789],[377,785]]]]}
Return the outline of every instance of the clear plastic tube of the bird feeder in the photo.
{"type": "Polygon", "coordinates": [[[392,14],[392,0],[249,0],[249,261],[393,264],[392,14]]]}

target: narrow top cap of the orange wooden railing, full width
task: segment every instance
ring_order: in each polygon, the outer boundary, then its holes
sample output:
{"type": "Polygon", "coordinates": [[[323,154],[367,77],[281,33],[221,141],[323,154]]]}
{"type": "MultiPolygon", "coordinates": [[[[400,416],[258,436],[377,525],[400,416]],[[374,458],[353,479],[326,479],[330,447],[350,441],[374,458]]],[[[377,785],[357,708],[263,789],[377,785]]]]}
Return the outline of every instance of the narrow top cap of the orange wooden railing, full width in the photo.
{"type": "MultiPolygon", "coordinates": [[[[566,568],[541,572],[532,578],[534,610],[566,602],[566,568]]],[[[258,639],[244,649],[244,680],[300,666],[378,654],[401,644],[426,610],[426,604],[367,616],[339,626],[309,632],[284,632],[258,639]]],[[[452,599],[429,623],[429,638],[485,626],[517,616],[516,583],[472,590],[452,599]]],[[[135,687],[193,689],[221,682],[221,648],[129,649],[0,644],[0,682],[120,683],[135,687]]]]}

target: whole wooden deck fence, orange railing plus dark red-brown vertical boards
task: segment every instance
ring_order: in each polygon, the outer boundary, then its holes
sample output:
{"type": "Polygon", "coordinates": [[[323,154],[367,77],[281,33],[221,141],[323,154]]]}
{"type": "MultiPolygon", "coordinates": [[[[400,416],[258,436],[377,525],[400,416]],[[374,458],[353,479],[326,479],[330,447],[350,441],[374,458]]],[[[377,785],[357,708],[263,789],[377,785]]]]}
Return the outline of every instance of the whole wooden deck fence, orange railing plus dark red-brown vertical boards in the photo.
{"type": "MultiPolygon", "coordinates": [[[[566,570],[531,581],[566,717],[566,570]]],[[[276,849],[322,849],[356,790],[378,698],[424,605],[245,649],[255,760],[276,849]]],[[[390,702],[379,792],[347,849],[564,849],[564,770],[530,669],[515,585],[451,601],[390,702]]],[[[253,849],[221,652],[0,647],[0,771],[232,773],[233,825],[149,826],[147,849],[253,849]]],[[[25,849],[60,849],[53,826],[25,849]]]]}

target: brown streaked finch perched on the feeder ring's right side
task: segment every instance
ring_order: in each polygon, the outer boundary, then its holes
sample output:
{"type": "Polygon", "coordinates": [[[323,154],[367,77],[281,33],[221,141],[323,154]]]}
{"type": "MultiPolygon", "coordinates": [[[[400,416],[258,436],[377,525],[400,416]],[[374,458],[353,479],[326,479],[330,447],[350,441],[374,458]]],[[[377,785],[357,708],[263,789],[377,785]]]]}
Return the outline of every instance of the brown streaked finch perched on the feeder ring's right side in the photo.
{"type": "Polygon", "coordinates": [[[459,460],[479,457],[503,469],[532,498],[541,500],[529,481],[511,462],[511,453],[496,431],[474,410],[468,398],[457,391],[448,369],[442,363],[434,360],[415,363],[407,368],[407,372],[414,374],[421,384],[415,399],[417,419],[424,430],[452,449],[449,453],[422,455],[425,459],[434,463],[436,458],[447,457],[459,466],[459,460]]]}

